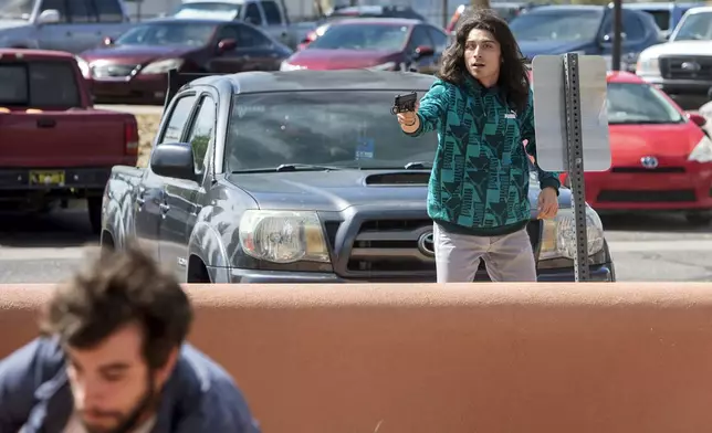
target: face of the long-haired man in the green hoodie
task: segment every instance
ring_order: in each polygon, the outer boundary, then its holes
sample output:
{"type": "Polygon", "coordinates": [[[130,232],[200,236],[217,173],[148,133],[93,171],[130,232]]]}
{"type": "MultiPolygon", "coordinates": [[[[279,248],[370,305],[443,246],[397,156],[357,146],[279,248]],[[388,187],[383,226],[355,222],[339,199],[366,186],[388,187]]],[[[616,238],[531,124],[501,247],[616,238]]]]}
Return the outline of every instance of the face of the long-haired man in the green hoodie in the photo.
{"type": "Polygon", "coordinates": [[[480,82],[496,78],[502,64],[500,43],[486,30],[473,29],[464,43],[464,64],[470,75],[480,82]]]}

